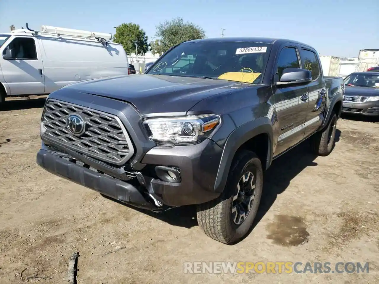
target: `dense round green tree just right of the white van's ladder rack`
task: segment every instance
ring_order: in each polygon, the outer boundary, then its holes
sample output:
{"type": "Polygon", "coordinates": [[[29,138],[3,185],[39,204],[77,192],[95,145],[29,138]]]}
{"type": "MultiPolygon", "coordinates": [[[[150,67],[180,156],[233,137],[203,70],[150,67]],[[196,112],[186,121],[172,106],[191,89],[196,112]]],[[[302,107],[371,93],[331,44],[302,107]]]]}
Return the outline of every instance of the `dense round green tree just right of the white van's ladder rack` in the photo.
{"type": "Polygon", "coordinates": [[[138,53],[145,53],[149,50],[145,31],[135,23],[123,23],[116,27],[113,41],[122,44],[126,52],[135,51],[136,45],[138,53]]]}

